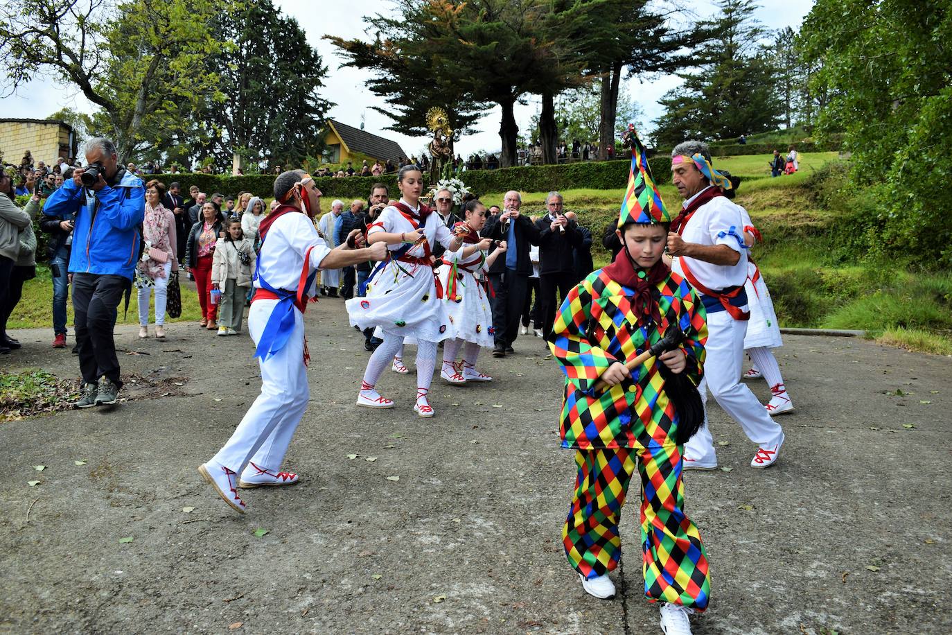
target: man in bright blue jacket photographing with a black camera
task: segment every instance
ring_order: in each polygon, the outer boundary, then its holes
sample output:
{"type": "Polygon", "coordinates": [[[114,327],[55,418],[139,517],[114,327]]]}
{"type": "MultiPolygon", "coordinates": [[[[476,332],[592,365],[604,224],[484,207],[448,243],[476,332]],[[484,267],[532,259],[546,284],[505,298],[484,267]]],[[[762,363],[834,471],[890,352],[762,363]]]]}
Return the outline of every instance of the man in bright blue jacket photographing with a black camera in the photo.
{"type": "Polygon", "coordinates": [[[48,217],[74,217],[69,254],[73,322],[83,374],[75,407],[115,404],[122,380],[112,329],[116,308],[132,283],[145,217],[142,179],[118,164],[115,146],[96,137],[85,146],[86,169],[57,189],[43,208],[48,217]]]}

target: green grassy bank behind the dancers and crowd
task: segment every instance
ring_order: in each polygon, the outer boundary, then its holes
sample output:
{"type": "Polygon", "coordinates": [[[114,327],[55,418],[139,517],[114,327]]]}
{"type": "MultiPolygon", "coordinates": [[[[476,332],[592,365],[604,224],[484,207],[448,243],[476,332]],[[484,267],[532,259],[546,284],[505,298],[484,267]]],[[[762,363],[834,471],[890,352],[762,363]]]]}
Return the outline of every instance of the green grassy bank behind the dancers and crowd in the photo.
{"type": "MultiPolygon", "coordinates": [[[[816,208],[805,187],[811,170],[836,153],[802,157],[800,172],[776,179],[769,177],[764,157],[728,157],[718,163],[745,179],[737,202],[764,232],[765,242],[754,248],[753,256],[764,271],[783,326],[861,328],[882,334],[888,344],[952,354],[952,277],[943,271],[912,273],[895,264],[844,258],[831,247],[828,212],[816,208]]],[[[680,207],[673,187],[661,191],[670,209],[680,207]]],[[[601,247],[601,232],[617,219],[624,190],[571,189],[563,194],[566,208],[577,211],[595,234],[593,256],[597,267],[604,266],[608,254],[601,247]]],[[[501,192],[483,196],[486,203],[502,198],[501,192]]],[[[524,192],[523,199],[527,213],[544,212],[545,192],[524,192]]],[[[37,273],[13,312],[11,328],[50,326],[49,269],[40,267],[37,273]]],[[[183,286],[182,295],[183,317],[174,321],[197,321],[194,291],[183,286]]],[[[137,320],[136,311],[133,294],[129,323],[137,320]]]]}

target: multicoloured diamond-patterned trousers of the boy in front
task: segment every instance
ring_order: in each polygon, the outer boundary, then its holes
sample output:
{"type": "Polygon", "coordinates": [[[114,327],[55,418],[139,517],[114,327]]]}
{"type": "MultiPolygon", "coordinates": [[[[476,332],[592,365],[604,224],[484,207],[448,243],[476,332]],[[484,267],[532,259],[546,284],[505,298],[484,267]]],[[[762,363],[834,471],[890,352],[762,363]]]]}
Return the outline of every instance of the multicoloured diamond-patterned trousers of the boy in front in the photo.
{"type": "Polygon", "coordinates": [[[568,562],[586,579],[618,566],[619,512],[637,463],[645,597],[704,610],[710,596],[707,555],[698,527],[684,515],[680,448],[577,450],[575,463],[575,494],[562,530],[568,562]]]}

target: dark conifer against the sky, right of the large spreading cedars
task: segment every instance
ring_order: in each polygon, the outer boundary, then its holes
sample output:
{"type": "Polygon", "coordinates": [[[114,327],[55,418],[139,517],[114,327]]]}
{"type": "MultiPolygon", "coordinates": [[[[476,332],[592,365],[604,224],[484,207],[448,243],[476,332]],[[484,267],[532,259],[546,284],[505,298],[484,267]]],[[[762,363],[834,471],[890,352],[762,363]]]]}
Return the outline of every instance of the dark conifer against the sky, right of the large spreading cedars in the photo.
{"type": "Polygon", "coordinates": [[[685,138],[727,139],[776,129],[783,116],[774,50],[753,12],[753,0],[721,0],[716,29],[721,38],[705,50],[708,63],[698,73],[679,73],[684,85],[661,100],[656,120],[660,145],[685,138]]]}

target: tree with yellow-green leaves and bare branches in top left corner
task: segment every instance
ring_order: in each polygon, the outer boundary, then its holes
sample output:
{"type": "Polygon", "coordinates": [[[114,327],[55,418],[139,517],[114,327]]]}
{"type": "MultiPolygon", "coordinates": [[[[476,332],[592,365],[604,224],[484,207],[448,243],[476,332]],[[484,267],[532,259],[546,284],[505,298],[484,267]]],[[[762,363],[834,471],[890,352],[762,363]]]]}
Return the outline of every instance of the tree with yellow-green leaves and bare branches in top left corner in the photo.
{"type": "Polygon", "coordinates": [[[102,108],[93,133],[133,160],[158,131],[216,92],[205,58],[222,48],[208,30],[212,0],[10,0],[0,62],[15,90],[37,76],[80,89],[102,108]],[[15,19],[13,16],[17,16],[15,19]],[[21,19],[22,16],[22,19],[21,19]]]}

